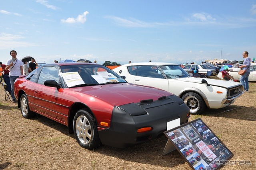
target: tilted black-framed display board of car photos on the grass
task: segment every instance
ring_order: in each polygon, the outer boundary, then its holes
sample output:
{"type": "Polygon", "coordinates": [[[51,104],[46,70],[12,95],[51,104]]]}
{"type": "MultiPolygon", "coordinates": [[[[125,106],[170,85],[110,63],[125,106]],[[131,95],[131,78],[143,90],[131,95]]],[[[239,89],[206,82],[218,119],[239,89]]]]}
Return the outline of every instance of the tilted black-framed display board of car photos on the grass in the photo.
{"type": "Polygon", "coordinates": [[[194,170],[217,170],[234,156],[200,118],[164,134],[194,170]]]}

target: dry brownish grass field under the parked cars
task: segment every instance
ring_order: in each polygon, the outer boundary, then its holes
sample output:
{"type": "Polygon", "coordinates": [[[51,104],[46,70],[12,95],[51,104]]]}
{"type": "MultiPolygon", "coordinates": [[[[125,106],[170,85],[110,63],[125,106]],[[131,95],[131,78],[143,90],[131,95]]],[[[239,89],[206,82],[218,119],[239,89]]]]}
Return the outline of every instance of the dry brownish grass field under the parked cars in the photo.
{"type": "MultiPolygon", "coordinates": [[[[223,80],[219,80],[223,81],[223,80]]],[[[221,83],[221,82],[220,82],[221,83]]],[[[226,165],[222,170],[256,169],[256,83],[250,82],[231,106],[206,109],[191,115],[201,118],[231,150],[231,160],[248,160],[251,165],[226,165]]],[[[175,150],[162,156],[167,138],[161,136],[130,148],[101,146],[81,148],[68,128],[43,116],[22,117],[17,104],[4,99],[0,84],[0,170],[189,170],[175,150]]]]}

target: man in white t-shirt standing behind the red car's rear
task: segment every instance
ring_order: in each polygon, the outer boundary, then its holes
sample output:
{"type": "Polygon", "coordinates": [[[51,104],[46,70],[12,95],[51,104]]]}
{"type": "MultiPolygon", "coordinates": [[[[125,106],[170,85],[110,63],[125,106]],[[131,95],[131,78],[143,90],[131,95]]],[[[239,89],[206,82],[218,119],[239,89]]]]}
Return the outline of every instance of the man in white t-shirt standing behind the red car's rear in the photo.
{"type": "Polygon", "coordinates": [[[11,83],[11,96],[12,96],[12,102],[15,103],[16,99],[14,96],[14,82],[16,78],[18,78],[20,75],[23,75],[23,62],[21,60],[18,60],[16,58],[17,52],[12,50],[10,51],[10,56],[12,58],[7,61],[5,70],[9,70],[9,76],[10,76],[10,83],[11,83]]]}

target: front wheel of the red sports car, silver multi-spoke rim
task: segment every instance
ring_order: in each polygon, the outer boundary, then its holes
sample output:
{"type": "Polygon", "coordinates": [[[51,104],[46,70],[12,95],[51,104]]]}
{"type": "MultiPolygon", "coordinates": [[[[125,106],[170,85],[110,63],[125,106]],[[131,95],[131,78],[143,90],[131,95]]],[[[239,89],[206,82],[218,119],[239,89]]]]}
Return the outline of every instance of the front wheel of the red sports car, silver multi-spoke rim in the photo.
{"type": "Polygon", "coordinates": [[[92,150],[100,146],[95,118],[85,109],[76,112],[73,121],[76,141],[83,148],[92,150]]]}

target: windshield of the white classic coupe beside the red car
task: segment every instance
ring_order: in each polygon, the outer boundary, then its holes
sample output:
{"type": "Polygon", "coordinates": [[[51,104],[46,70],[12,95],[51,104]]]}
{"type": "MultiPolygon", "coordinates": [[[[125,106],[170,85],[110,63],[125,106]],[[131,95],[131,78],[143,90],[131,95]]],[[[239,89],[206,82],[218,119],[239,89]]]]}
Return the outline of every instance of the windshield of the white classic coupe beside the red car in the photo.
{"type": "Polygon", "coordinates": [[[184,78],[188,77],[188,73],[178,65],[160,66],[167,78],[184,78]]]}

